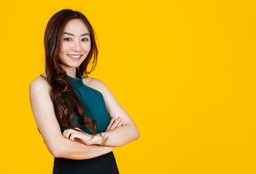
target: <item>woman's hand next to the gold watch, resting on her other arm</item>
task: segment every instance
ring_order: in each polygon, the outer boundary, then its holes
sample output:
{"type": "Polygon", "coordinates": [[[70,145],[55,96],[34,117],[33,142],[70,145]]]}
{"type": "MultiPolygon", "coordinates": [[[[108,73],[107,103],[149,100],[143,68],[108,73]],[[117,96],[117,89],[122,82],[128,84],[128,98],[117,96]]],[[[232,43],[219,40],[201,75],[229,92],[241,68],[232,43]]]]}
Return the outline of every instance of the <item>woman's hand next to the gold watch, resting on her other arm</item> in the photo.
{"type": "MultiPolygon", "coordinates": [[[[80,130],[80,128],[75,128],[80,130]]],[[[71,141],[76,141],[75,138],[80,139],[80,141],[83,141],[84,144],[86,145],[92,145],[92,144],[97,144],[97,137],[96,135],[94,136],[94,138],[92,138],[91,134],[88,134],[86,132],[80,132],[78,130],[73,130],[73,129],[66,129],[63,131],[62,135],[67,138],[70,139],[71,141]]]]}

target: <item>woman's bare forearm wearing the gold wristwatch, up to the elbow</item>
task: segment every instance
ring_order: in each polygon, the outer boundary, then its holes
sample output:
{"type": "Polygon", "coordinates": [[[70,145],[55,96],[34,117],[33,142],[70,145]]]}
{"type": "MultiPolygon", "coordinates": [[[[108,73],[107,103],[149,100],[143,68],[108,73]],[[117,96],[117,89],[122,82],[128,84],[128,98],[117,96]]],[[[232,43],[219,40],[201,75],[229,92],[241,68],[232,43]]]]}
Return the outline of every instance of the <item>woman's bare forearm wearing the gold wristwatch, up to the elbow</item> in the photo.
{"type": "MultiPolygon", "coordinates": [[[[108,140],[105,146],[124,146],[125,144],[139,138],[139,130],[135,125],[122,125],[118,128],[107,131],[106,133],[108,135],[108,140]]],[[[101,144],[102,138],[99,134],[96,134],[96,136],[98,136],[96,144],[101,144]]]]}

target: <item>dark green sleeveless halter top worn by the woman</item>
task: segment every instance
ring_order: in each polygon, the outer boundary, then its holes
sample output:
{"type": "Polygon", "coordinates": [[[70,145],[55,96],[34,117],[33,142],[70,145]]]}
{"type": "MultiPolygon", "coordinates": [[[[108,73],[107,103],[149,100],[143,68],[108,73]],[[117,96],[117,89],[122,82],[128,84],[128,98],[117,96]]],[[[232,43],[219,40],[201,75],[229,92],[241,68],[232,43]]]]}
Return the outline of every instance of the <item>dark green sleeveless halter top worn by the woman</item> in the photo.
{"type": "MultiPolygon", "coordinates": [[[[90,117],[93,120],[96,120],[96,133],[104,132],[107,128],[107,125],[110,123],[110,116],[107,113],[102,93],[83,84],[83,77],[80,74],[78,68],[76,68],[76,74],[78,75],[79,79],[71,78],[70,76],[68,77],[70,80],[72,80],[75,94],[77,94],[78,98],[83,104],[84,115],[85,117],[90,117]]],[[[57,109],[55,109],[55,112],[57,114],[57,109]]],[[[73,117],[73,122],[78,123],[78,118],[73,117]]],[[[69,129],[60,124],[59,126],[62,132],[66,129],[69,129]]],[[[92,134],[91,130],[88,128],[79,128],[86,133],[92,134]]]]}

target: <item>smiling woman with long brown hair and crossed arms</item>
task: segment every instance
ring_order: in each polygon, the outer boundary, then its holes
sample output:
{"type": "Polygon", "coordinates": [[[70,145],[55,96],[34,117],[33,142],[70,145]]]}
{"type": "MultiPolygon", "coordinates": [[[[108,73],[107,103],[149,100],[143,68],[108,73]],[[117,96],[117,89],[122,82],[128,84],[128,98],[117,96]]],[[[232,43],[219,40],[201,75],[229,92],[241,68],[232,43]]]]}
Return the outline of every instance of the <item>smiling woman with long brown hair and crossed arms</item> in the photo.
{"type": "Polygon", "coordinates": [[[112,150],[139,130],[107,86],[88,78],[98,54],[91,24],[62,9],[46,26],[44,46],[46,72],[30,83],[30,105],[53,173],[119,173],[112,150]]]}

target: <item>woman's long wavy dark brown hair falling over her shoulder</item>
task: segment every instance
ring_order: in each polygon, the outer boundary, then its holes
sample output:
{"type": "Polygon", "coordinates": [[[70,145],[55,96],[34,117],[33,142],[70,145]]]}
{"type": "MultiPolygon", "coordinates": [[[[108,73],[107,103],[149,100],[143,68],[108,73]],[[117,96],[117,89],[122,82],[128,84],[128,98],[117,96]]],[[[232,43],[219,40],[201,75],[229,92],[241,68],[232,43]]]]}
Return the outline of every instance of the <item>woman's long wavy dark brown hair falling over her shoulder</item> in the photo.
{"type": "Polygon", "coordinates": [[[94,37],[94,30],[90,22],[88,22],[85,15],[81,12],[73,11],[72,9],[62,9],[51,17],[45,30],[46,76],[51,86],[50,96],[55,109],[57,109],[56,117],[58,122],[65,127],[73,129],[79,126],[86,127],[94,135],[96,133],[96,121],[84,117],[83,105],[75,94],[75,91],[73,91],[72,81],[67,76],[65,70],[60,67],[59,62],[59,47],[62,32],[67,22],[72,19],[80,19],[85,23],[91,40],[91,50],[86,59],[78,67],[81,75],[88,77],[88,74],[96,67],[98,49],[94,37]],[[87,70],[89,62],[92,63],[92,66],[90,70],[87,70]],[[75,115],[78,116],[79,125],[73,123],[73,117],[75,115]]]}

